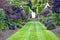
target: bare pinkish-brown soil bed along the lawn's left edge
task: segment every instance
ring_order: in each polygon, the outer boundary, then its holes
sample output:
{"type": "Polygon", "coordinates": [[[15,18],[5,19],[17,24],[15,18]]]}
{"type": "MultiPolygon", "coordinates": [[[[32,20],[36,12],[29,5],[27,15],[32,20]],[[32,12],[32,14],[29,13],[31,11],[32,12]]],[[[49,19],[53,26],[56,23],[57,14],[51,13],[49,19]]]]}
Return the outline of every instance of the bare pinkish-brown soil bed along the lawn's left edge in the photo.
{"type": "Polygon", "coordinates": [[[17,32],[18,30],[19,30],[18,28],[16,28],[15,30],[6,29],[0,32],[0,40],[6,40],[8,37],[10,37],[12,34],[17,32]]]}

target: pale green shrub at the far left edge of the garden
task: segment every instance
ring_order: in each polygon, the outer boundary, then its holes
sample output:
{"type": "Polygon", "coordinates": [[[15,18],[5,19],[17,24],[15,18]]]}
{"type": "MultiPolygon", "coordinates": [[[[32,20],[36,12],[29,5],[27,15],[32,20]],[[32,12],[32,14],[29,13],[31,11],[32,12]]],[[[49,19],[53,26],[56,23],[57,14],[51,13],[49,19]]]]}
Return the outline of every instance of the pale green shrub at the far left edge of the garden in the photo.
{"type": "Polygon", "coordinates": [[[0,9],[0,30],[5,29],[7,24],[5,23],[5,14],[2,9],[0,9]]]}

